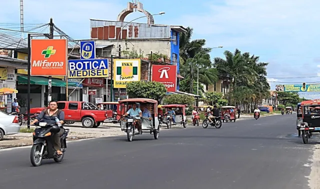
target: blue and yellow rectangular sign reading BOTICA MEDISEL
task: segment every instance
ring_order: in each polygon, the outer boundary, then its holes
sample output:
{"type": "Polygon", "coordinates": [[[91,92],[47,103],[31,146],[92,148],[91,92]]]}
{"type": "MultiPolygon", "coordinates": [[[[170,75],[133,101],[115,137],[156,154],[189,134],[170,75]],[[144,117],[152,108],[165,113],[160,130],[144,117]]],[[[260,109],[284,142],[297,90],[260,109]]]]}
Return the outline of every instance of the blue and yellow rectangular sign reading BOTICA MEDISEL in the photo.
{"type": "Polygon", "coordinates": [[[106,78],[108,77],[107,59],[69,60],[68,78],[106,78]]]}

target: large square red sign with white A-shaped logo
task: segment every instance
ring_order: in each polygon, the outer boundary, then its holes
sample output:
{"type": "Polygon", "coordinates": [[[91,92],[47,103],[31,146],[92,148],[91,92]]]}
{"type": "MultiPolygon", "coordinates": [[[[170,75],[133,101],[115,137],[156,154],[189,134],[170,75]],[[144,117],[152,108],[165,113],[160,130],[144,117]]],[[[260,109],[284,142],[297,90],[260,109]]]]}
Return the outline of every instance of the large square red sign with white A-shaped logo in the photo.
{"type": "Polygon", "coordinates": [[[152,81],[163,83],[168,92],[175,92],[176,66],[152,65],[152,81]]]}

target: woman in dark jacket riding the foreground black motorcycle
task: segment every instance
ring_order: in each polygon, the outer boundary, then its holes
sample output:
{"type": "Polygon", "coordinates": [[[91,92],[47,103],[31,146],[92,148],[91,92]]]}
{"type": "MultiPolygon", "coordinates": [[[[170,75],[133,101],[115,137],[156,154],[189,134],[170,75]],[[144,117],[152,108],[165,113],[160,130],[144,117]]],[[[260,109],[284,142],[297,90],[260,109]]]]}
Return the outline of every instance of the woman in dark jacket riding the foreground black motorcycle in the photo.
{"type": "MultiPolygon", "coordinates": [[[[35,117],[35,119],[30,123],[33,125],[35,122],[47,122],[48,124],[56,123],[55,118],[59,119],[59,122],[63,124],[64,121],[64,112],[57,109],[58,105],[55,100],[51,100],[49,103],[49,108],[41,111],[41,113],[35,117]]],[[[53,134],[53,148],[56,151],[57,155],[62,155],[61,151],[61,141],[60,136],[64,133],[64,129],[60,129],[59,132],[53,134]]]]}

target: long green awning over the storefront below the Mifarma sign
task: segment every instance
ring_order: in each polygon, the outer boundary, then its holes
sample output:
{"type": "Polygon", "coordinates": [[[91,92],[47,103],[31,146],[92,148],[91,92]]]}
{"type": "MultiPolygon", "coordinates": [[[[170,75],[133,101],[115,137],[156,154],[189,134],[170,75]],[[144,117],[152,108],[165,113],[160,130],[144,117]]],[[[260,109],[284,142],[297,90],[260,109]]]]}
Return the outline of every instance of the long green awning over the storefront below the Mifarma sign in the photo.
{"type": "MultiPolygon", "coordinates": [[[[28,84],[28,76],[17,76],[18,84],[28,84]]],[[[65,87],[66,83],[60,79],[52,78],[52,86],[54,87],[65,87]]],[[[46,77],[34,77],[30,76],[31,85],[48,85],[48,78],[46,77]]],[[[76,82],[68,82],[68,87],[82,87],[82,84],[76,82]]]]}

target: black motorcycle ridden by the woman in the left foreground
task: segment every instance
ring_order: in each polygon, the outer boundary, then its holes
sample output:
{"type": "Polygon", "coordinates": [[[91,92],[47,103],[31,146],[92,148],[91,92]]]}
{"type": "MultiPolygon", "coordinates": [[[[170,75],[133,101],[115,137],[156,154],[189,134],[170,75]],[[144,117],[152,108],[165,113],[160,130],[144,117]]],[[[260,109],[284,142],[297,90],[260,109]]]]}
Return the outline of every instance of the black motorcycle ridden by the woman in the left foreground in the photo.
{"type": "Polygon", "coordinates": [[[52,159],[55,162],[61,162],[65,153],[66,138],[69,129],[58,127],[56,123],[49,124],[46,122],[37,122],[38,126],[33,132],[33,145],[30,151],[30,161],[33,166],[40,166],[42,159],[52,159]],[[58,155],[53,148],[53,137],[55,134],[64,129],[64,133],[60,136],[62,154],[58,155]]]}

